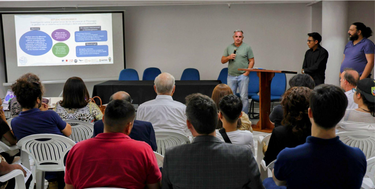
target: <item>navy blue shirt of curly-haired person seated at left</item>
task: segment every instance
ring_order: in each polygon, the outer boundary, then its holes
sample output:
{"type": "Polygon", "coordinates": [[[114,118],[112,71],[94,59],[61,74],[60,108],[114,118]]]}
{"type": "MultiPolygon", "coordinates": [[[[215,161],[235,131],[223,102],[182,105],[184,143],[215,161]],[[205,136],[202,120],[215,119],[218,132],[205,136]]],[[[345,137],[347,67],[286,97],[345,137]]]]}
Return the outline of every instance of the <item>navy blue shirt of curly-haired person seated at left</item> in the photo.
{"type": "Polygon", "coordinates": [[[17,141],[24,137],[35,134],[55,134],[62,135],[61,132],[67,126],[67,123],[52,110],[41,111],[33,108],[19,113],[11,121],[11,127],[17,141]]]}

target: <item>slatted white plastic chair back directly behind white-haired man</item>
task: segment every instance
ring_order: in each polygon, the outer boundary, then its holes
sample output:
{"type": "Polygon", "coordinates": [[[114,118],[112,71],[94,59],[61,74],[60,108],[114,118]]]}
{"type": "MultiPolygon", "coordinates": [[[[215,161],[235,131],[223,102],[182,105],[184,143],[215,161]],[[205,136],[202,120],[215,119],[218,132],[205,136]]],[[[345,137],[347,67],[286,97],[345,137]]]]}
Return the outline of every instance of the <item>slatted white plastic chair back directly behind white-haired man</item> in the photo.
{"type": "Polygon", "coordinates": [[[184,143],[190,143],[190,140],[185,135],[181,133],[172,132],[172,131],[155,131],[156,152],[164,155],[165,149],[170,146],[176,146],[184,143]]]}

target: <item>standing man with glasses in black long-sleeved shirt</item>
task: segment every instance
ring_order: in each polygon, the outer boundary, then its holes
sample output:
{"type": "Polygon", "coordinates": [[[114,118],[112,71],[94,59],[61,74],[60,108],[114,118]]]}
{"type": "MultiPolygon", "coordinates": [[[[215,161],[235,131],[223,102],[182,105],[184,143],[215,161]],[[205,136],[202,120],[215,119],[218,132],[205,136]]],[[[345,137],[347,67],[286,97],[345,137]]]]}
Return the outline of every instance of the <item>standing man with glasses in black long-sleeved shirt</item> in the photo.
{"type": "Polygon", "coordinates": [[[317,86],[324,84],[328,51],[320,46],[322,40],[320,34],[314,32],[307,35],[307,46],[310,49],[308,49],[304,55],[302,74],[310,75],[317,86]]]}

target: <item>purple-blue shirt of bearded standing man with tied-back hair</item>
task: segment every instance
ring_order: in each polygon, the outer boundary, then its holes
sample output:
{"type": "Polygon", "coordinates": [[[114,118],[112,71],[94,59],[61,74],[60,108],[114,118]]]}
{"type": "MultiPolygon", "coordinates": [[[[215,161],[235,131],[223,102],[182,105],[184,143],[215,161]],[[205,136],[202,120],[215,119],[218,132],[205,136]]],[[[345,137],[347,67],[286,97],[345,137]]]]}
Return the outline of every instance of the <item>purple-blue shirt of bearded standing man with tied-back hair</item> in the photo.
{"type": "Polygon", "coordinates": [[[353,41],[348,42],[344,49],[345,58],[341,64],[340,72],[342,73],[345,68],[353,68],[362,75],[365,70],[367,59],[365,54],[374,54],[374,43],[363,38],[358,44],[353,45],[353,41]]]}

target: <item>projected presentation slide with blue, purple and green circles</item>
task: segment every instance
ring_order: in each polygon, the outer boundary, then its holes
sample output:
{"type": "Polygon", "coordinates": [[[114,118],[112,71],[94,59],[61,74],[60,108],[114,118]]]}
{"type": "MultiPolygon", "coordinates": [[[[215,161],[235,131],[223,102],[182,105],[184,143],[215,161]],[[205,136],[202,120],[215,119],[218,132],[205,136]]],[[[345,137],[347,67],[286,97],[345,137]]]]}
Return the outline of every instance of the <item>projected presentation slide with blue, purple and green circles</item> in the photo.
{"type": "Polygon", "coordinates": [[[113,64],[112,13],[14,15],[17,66],[113,64]]]}

